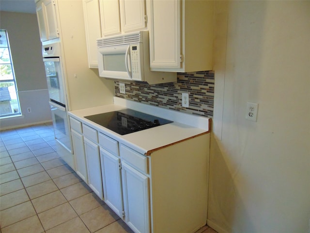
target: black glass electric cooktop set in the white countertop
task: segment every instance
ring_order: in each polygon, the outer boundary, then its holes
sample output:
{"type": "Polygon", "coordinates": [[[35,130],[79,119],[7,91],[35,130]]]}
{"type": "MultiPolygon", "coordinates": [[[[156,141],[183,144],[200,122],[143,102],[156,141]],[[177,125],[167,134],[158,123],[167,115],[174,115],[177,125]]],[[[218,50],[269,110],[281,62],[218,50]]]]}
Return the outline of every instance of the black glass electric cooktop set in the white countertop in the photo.
{"type": "Polygon", "coordinates": [[[109,113],[85,116],[85,118],[121,135],[173,122],[171,120],[141,113],[132,109],[122,109],[109,113]]]}

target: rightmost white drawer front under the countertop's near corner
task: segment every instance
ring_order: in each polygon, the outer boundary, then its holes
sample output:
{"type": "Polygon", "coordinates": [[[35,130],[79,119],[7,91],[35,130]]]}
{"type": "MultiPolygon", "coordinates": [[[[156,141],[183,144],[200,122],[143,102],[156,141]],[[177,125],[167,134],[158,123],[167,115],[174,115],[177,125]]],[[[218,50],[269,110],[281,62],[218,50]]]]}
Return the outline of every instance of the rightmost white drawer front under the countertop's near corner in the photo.
{"type": "Polygon", "coordinates": [[[121,158],[129,165],[135,167],[143,173],[148,173],[148,162],[146,156],[124,145],[121,145],[120,147],[120,155],[121,158]]]}

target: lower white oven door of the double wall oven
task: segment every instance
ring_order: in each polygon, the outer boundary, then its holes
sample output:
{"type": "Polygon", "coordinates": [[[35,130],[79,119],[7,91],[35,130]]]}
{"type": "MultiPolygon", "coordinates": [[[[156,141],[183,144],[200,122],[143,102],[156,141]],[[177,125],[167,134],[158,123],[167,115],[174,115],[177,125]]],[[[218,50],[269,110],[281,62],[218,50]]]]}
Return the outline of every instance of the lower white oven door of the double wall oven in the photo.
{"type": "Polygon", "coordinates": [[[52,112],[55,140],[72,153],[71,134],[66,108],[49,101],[52,112]]]}

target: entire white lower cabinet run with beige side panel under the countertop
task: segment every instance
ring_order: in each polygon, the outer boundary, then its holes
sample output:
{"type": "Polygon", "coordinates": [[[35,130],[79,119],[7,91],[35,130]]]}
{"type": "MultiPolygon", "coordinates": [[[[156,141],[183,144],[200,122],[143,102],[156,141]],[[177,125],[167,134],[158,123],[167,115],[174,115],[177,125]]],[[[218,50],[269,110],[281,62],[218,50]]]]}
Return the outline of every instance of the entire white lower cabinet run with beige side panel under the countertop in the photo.
{"type": "Polygon", "coordinates": [[[144,155],[70,122],[78,175],[135,233],[190,233],[206,224],[209,133],[144,155]]]}

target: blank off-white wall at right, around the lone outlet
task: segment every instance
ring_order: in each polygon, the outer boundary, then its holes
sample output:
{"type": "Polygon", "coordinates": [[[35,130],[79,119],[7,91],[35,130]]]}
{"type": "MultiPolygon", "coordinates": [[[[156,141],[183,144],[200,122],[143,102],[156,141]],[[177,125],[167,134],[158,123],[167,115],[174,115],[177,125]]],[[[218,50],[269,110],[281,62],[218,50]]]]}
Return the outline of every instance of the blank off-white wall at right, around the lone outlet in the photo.
{"type": "Polygon", "coordinates": [[[215,18],[208,224],[310,232],[310,1],[217,1],[215,18]]]}

